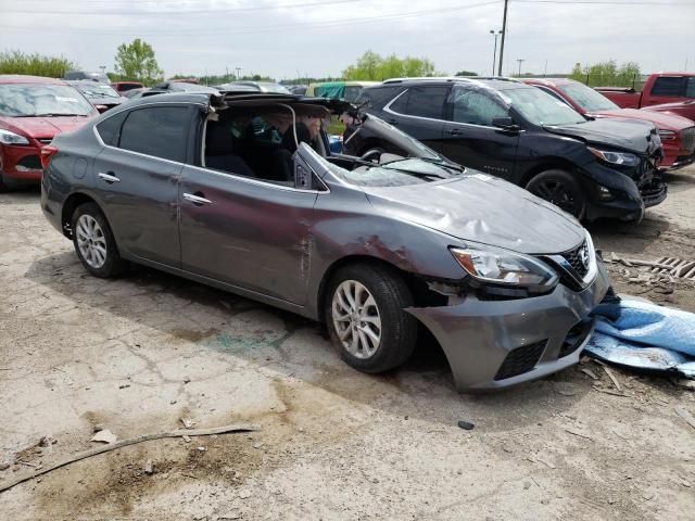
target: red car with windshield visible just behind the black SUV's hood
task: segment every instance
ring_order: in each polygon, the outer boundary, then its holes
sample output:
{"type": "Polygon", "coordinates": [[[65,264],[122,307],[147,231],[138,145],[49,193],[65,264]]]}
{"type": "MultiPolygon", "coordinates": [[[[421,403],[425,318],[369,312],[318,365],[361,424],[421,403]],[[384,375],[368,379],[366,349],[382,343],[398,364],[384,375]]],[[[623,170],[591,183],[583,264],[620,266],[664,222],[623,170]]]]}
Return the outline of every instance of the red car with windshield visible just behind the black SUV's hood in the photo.
{"type": "Polygon", "coordinates": [[[653,123],[659,129],[664,148],[661,168],[680,168],[695,162],[695,124],[686,117],[655,111],[620,109],[605,96],[573,79],[529,78],[522,81],[558,98],[587,117],[641,119],[653,123]]]}

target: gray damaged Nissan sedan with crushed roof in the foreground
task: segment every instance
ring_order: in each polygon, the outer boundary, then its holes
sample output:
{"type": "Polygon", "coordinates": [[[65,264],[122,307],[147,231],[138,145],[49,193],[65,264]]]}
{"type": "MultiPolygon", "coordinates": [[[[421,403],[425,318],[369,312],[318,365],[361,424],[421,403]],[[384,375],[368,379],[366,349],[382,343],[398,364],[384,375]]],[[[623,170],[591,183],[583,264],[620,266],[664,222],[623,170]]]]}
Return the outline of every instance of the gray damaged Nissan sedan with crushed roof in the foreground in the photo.
{"type": "Polygon", "coordinates": [[[326,322],[365,372],[419,326],[458,390],[571,366],[609,282],[590,234],[506,181],[353,112],[402,155],[331,154],[340,102],[154,96],[42,151],[41,207],[97,277],[147,265],[326,322]]]}

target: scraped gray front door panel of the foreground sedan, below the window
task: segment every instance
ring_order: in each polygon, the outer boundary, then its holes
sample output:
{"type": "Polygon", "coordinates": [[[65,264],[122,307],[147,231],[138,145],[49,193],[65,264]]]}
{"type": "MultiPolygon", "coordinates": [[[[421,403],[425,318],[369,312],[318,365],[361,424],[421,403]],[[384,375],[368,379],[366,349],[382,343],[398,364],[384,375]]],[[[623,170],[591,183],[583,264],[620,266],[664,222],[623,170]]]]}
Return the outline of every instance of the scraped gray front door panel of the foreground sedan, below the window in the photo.
{"type": "Polygon", "coordinates": [[[317,192],[197,166],[179,188],[187,271],[303,305],[317,192]]]}

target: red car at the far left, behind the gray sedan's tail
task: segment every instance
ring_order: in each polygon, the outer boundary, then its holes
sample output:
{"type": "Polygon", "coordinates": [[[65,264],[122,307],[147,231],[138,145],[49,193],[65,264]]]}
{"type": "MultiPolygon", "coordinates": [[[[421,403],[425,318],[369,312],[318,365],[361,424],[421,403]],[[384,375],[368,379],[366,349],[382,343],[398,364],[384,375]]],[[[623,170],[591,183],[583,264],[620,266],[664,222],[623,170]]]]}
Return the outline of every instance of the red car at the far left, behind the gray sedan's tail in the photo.
{"type": "Polygon", "coordinates": [[[99,115],[65,81],[0,75],[0,192],[41,179],[41,147],[99,115]]]}

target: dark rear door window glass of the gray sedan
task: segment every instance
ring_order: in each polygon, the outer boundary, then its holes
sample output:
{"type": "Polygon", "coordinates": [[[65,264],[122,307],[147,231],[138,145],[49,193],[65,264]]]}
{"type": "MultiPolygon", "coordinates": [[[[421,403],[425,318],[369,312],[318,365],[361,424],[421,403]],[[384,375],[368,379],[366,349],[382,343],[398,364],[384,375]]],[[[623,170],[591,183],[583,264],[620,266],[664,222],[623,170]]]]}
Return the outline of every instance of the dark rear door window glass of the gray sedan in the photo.
{"type": "Polygon", "coordinates": [[[155,106],[131,111],[118,148],[182,163],[186,158],[190,116],[185,106],[155,106]]]}

